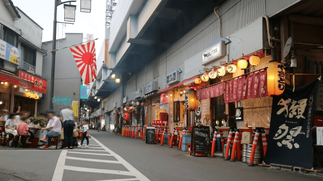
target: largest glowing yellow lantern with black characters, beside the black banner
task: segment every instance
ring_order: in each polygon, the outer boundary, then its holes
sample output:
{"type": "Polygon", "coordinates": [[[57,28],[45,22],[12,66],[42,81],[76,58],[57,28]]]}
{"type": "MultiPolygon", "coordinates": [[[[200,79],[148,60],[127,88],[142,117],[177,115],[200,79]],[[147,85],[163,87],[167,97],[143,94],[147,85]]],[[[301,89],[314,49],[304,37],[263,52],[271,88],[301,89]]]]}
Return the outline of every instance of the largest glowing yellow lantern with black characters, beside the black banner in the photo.
{"type": "Polygon", "coordinates": [[[278,62],[266,65],[267,69],[267,91],[268,95],[280,95],[285,90],[285,69],[278,62]]]}

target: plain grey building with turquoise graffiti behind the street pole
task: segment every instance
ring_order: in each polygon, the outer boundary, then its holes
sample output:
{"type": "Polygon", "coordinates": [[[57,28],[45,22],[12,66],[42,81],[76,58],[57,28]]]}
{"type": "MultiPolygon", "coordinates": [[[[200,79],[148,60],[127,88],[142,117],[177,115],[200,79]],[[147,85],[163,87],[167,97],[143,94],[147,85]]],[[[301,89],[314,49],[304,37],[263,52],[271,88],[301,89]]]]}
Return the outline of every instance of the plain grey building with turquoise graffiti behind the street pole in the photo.
{"type": "MultiPolygon", "coordinates": [[[[66,33],[65,38],[56,40],[56,48],[69,47],[80,44],[83,41],[82,33],[66,33]]],[[[42,42],[42,48],[48,52],[52,50],[52,41],[42,42]]],[[[43,77],[47,80],[47,90],[50,90],[51,54],[43,58],[43,77]]],[[[61,110],[71,106],[80,106],[80,86],[82,85],[79,70],[70,48],[56,52],[55,85],[53,96],[53,108],[57,114],[61,110]],[[74,103],[74,102],[77,103],[74,103]]],[[[49,94],[40,102],[40,111],[45,112],[49,108],[49,94]]],[[[79,108],[77,108],[79,109],[79,108]]],[[[78,114],[78,111],[76,111],[78,114]]],[[[74,112],[74,114],[76,114],[74,112]]]]}

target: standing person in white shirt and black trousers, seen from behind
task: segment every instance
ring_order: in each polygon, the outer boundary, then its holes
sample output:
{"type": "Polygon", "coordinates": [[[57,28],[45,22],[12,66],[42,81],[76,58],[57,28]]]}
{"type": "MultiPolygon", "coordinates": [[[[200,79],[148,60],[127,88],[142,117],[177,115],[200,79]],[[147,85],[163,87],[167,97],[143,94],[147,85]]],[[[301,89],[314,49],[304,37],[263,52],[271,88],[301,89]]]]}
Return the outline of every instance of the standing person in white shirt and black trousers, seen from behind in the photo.
{"type": "Polygon", "coordinates": [[[61,110],[61,115],[63,116],[64,149],[73,149],[73,130],[75,124],[73,122],[74,112],[72,111],[72,107],[61,110]]]}

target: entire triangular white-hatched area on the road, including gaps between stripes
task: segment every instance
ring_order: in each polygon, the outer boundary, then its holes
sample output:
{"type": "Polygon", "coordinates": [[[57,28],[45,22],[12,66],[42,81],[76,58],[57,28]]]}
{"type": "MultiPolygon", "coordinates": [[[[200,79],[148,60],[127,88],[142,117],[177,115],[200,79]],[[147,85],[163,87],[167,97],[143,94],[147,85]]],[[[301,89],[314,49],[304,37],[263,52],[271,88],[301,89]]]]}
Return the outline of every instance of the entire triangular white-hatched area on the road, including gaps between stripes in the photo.
{"type": "MultiPolygon", "coordinates": [[[[83,143],[83,145],[85,144],[83,143]]],[[[70,180],[69,176],[73,171],[78,176],[83,175],[83,178],[91,175],[86,180],[149,180],[121,156],[105,147],[91,135],[89,147],[62,150],[52,181],[70,180]],[[98,177],[93,177],[93,175],[98,177]]],[[[73,177],[75,178],[75,176],[73,177]]]]}

